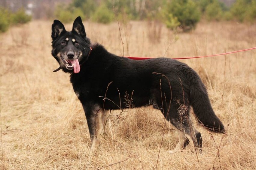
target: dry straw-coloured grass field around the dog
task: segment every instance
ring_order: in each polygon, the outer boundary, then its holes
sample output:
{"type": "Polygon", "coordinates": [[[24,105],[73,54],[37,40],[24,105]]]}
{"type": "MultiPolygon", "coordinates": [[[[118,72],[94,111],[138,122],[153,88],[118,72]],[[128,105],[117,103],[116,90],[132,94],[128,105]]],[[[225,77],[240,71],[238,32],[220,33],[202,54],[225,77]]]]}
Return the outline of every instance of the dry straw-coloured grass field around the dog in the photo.
{"type": "MultiPolygon", "coordinates": [[[[51,24],[33,21],[0,34],[0,169],[256,169],[255,49],[181,60],[200,74],[227,129],[221,135],[197,126],[203,154],[191,144],[166,153],[175,147],[178,133],[165,127],[163,115],[152,107],[111,112],[112,130],[106,126],[93,154],[69,75],[53,73],[59,66],[50,53],[51,24]]],[[[84,24],[92,42],[117,55],[175,58],[256,46],[255,24],[201,22],[191,33],[175,34],[159,24],[133,21],[120,24],[123,45],[117,23],[84,24]]],[[[65,26],[70,30],[72,24],[65,26]]]]}

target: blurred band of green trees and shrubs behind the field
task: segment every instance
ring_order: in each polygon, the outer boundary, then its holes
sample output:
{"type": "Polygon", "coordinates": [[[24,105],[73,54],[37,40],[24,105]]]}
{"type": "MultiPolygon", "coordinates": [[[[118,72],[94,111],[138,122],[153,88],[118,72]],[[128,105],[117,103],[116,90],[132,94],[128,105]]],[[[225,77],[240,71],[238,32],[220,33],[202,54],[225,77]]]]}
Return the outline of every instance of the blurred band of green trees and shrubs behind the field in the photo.
{"type": "MultiPolygon", "coordinates": [[[[190,31],[201,19],[255,22],[256,0],[236,0],[230,7],[219,0],[72,0],[70,4],[58,4],[49,17],[72,22],[77,16],[105,24],[114,20],[154,20],[173,30],[190,31]]],[[[16,16],[0,9],[0,31],[6,31],[11,23],[30,20],[22,9],[16,16]]]]}

